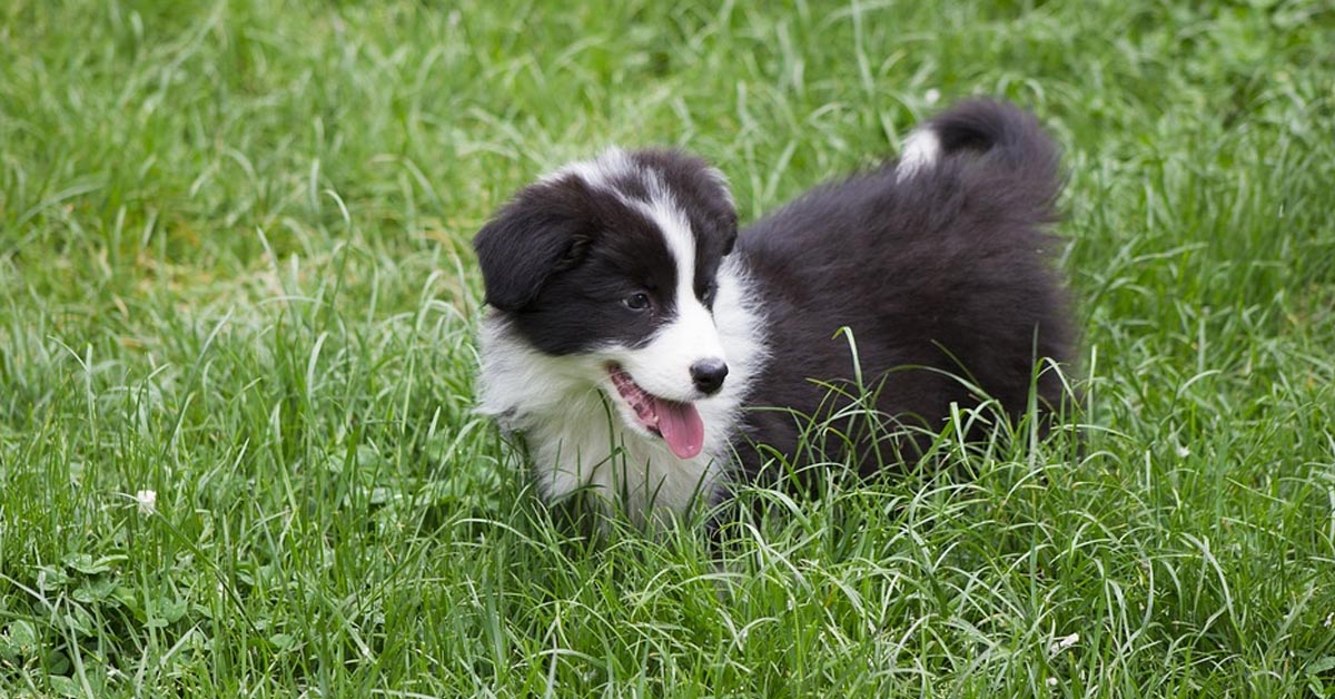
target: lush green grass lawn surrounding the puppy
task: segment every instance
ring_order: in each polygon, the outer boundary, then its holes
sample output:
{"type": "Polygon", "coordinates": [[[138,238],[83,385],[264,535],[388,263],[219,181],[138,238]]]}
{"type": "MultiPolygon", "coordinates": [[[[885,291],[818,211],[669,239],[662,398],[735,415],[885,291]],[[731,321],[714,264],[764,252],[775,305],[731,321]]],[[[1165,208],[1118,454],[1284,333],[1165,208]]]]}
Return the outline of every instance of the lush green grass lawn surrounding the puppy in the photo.
{"type": "Polygon", "coordinates": [[[426,5],[0,5],[0,695],[1335,691],[1335,9],[426,5]],[[670,143],[750,221],[973,94],[1067,150],[1083,456],[553,524],[490,211],[670,143]]]}

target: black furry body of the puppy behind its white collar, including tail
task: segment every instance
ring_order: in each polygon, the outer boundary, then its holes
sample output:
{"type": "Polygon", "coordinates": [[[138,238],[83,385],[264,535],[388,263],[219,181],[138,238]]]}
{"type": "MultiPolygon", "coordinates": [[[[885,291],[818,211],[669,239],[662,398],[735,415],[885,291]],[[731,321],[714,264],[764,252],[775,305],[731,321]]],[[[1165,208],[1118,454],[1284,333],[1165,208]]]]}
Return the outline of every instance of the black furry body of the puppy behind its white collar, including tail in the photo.
{"type": "MultiPolygon", "coordinates": [[[[877,410],[933,432],[952,402],[979,400],[947,373],[971,377],[1015,416],[1036,360],[1072,358],[1056,241],[1044,231],[1061,187],[1055,147],[1032,116],[992,102],[929,124],[943,146],[936,163],[902,180],[892,163],[825,184],[738,237],[772,338],[749,405],[817,418],[846,406],[822,405],[830,392],[812,381],[852,384],[841,327],[853,333],[864,384],[878,389],[877,410]]],[[[1060,404],[1051,372],[1037,394],[1060,404]]],[[[746,441],[797,456],[792,414],[753,410],[746,422],[746,441]]],[[[752,445],[740,456],[753,476],[765,457],[752,445]]],[[[877,460],[861,462],[869,470],[877,460]]]]}

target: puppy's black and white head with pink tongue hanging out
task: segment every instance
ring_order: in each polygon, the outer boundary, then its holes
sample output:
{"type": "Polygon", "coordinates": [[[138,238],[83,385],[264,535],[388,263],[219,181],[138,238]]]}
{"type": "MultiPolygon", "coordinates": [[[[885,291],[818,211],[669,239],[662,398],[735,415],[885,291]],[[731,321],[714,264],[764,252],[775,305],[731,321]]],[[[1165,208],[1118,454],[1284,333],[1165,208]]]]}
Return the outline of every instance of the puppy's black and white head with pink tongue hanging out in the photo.
{"type": "Polygon", "coordinates": [[[487,303],[533,347],[582,356],[626,425],[700,453],[694,402],[728,374],[713,302],[737,215],[722,175],[676,151],[574,163],[474,239],[487,303]]]}

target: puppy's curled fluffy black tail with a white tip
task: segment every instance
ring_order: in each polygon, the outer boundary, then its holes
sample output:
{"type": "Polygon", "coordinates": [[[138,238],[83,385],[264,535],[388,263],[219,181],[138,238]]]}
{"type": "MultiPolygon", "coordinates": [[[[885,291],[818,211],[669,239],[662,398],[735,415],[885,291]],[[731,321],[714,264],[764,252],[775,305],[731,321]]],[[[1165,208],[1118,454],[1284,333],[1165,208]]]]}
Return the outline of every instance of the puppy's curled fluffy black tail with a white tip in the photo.
{"type": "Polygon", "coordinates": [[[1029,202],[1051,203],[1061,190],[1057,147],[1013,104],[972,99],[928,120],[904,140],[896,175],[904,182],[961,159],[1029,202]]]}

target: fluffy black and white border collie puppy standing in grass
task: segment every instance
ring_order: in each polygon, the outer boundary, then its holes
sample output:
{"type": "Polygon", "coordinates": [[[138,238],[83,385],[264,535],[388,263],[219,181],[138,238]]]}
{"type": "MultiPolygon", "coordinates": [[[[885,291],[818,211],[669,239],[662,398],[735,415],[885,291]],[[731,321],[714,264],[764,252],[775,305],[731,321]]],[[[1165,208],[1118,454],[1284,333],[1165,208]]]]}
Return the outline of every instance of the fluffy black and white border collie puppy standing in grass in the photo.
{"type": "Polygon", "coordinates": [[[1033,377],[1072,354],[1044,231],[1060,186],[1035,119],[985,100],[740,234],[726,179],[694,156],[569,164],[474,241],[481,410],[522,436],[545,497],[589,489],[643,521],[776,458],[825,458],[813,420],[842,449],[828,458],[872,473],[921,437],[850,437],[857,416],[940,430],[981,394],[1012,417],[1035,393],[1057,405],[1057,377],[1033,377]]]}

